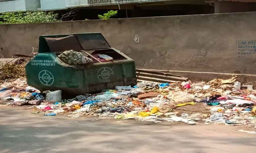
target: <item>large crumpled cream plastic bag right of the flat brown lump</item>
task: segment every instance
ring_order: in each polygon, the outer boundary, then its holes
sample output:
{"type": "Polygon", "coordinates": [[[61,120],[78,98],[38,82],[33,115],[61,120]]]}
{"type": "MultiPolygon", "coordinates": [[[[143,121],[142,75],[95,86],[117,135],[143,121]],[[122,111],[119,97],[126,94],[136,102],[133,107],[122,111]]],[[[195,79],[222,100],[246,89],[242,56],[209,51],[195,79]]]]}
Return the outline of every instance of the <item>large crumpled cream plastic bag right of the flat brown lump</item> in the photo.
{"type": "Polygon", "coordinates": [[[169,96],[168,98],[171,98],[175,102],[187,102],[195,100],[194,95],[182,91],[175,92],[171,94],[171,96],[169,96]]]}

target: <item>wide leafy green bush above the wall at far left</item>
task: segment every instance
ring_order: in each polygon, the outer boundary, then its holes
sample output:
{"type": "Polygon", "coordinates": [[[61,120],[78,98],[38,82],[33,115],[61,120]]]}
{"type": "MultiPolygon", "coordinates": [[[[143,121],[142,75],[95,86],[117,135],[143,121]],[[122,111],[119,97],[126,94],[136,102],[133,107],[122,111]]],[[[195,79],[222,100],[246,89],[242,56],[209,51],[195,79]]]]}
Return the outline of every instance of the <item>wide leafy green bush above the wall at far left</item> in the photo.
{"type": "Polygon", "coordinates": [[[58,14],[54,12],[27,11],[10,12],[0,14],[0,24],[12,23],[36,23],[36,22],[55,22],[58,20],[58,14]]]}

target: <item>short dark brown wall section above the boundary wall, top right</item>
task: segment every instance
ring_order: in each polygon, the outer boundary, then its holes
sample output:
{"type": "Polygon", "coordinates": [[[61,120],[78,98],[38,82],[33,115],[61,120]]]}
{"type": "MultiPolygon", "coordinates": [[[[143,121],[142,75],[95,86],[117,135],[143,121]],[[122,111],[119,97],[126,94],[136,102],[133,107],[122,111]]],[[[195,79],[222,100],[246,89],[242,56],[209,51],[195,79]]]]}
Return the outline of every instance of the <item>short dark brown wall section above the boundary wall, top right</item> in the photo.
{"type": "Polygon", "coordinates": [[[215,13],[256,11],[256,3],[215,2],[215,13]]]}

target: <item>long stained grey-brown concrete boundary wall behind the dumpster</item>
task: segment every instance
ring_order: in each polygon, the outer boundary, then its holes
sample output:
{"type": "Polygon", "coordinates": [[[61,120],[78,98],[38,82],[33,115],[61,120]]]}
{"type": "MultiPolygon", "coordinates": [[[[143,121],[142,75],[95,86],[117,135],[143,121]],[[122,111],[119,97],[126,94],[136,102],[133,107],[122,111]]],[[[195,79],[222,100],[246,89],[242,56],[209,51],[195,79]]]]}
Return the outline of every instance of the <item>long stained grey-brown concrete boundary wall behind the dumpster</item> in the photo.
{"type": "Polygon", "coordinates": [[[138,68],[256,74],[255,16],[256,12],[245,12],[3,24],[0,52],[5,58],[29,55],[40,35],[102,32],[138,68]]]}

